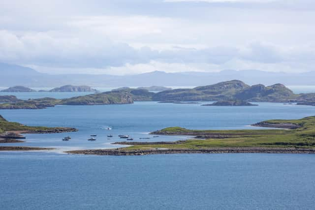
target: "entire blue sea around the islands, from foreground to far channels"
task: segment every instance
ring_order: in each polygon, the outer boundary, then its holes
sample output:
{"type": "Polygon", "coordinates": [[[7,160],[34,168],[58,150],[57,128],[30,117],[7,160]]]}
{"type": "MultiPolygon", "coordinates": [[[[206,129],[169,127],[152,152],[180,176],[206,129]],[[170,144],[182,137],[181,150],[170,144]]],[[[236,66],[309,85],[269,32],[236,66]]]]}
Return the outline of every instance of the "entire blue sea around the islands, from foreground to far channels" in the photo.
{"type": "MultiPolygon", "coordinates": [[[[67,98],[91,92],[13,94],[28,99],[67,98]]],[[[206,103],[211,102],[150,101],[0,110],[0,115],[7,120],[26,125],[78,129],[72,133],[27,134],[25,143],[0,145],[56,149],[0,152],[0,210],[314,209],[314,154],[96,156],[64,152],[122,147],[111,144],[126,140],[118,135],[129,135],[140,142],[188,138],[150,135],[169,126],[266,129],[251,124],[315,115],[315,107],[294,104],[253,102],[258,106],[201,106],[206,103]],[[91,135],[96,135],[96,141],[88,141],[91,135]],[[65,136],[71,139],[62,141],[65,136]]]]}

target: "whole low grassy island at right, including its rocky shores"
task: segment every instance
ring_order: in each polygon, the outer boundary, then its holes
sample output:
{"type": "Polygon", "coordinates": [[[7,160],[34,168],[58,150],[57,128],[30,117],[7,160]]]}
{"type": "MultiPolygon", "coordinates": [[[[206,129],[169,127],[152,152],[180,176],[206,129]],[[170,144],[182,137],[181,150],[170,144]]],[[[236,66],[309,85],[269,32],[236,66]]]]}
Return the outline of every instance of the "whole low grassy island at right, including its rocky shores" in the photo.
{"type": "Polygon", "coordinates": [[[315,116],[299,120],[266,120],[253,126],[285,129],[189,130],[168,127],[154,135],[188,135],[177,142],[116,142],[130,147],[108,150],[75,150],[67,153],[143,155],[164,153],[315,153],[315,116]]]}

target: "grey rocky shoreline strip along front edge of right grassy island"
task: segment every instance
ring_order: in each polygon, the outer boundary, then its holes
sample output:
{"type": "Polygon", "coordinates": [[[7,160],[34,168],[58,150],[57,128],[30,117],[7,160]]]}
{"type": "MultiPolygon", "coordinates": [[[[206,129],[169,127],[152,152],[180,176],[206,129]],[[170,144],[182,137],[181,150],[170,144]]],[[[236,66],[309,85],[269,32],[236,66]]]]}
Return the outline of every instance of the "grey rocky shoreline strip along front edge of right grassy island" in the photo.
{"type": "Polygon", "coordinates": [[[72,150],[68,154],[94,154],[94,155],[147,155],[147,154],[188,154],[188,153],[315,153],[315,149],[295,148],[212,148],[212,149],[150,149],[150,150],[72,150]]]}

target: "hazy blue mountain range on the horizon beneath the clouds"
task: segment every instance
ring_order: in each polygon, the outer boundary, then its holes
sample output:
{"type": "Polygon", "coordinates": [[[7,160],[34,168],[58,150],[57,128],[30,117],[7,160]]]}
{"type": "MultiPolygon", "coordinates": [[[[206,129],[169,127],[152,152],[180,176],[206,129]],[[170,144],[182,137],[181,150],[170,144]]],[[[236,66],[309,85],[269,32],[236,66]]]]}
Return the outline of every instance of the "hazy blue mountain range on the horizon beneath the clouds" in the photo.
{"type": "Polygon", "coordinates": [[[220,72],[166,73],[153,71],[136,75],[51,75],[20,65],[0,63],[0,86],[23,85],[32,88],[59,87],[67,84],[92,87],[140,87],[140,86],[204,86],[227,80],[241,80],[249,85],[315,85],[315,71],[304,73],[267,72],[259,70],[223,70],[220,72]]]}

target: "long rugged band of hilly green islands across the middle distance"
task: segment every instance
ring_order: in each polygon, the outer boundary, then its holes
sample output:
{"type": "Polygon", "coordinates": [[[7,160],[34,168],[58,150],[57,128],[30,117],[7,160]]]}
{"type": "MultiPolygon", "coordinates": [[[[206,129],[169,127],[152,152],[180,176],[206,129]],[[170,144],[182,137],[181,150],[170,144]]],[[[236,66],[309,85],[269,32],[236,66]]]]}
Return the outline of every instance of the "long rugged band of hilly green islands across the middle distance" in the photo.
{"type": "Polygon", "coordinates": [[[1,101],[3,103],[0,104],[0,109],[44,109],[56,105],[132,104],[134,101],[162,101],[168,103],[219,101],[217,104],[213,104],[219,106],[251,105],[248,102],[282,102],[314,106],[315,93],[295,94],[282,84],[249,86],[242,81],[231,80],[192,89],[163,90],[157,93],[145,89],[120,88],[65,99],[46,97],[19,100],[12,96],[0,96],[1,101]]]}

